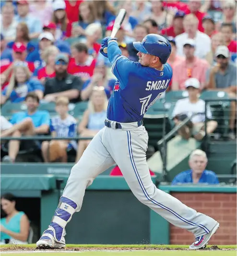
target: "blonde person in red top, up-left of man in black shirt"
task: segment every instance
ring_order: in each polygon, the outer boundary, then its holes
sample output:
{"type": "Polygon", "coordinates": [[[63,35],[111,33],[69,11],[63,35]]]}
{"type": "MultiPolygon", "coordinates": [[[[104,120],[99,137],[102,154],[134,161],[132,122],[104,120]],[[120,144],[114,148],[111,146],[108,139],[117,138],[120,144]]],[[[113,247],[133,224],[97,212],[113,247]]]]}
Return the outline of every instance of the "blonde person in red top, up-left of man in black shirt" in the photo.
{"type": "Polygon", "coordinates": [[[58,54],[59,49],[54,45],[48,46],[45,51],[42,52],[42,59],[46,65],[37,68],[33,75],[40,80],[42,84],[45,84],[46,77],[55,77],[55,58],[58,54]]]}

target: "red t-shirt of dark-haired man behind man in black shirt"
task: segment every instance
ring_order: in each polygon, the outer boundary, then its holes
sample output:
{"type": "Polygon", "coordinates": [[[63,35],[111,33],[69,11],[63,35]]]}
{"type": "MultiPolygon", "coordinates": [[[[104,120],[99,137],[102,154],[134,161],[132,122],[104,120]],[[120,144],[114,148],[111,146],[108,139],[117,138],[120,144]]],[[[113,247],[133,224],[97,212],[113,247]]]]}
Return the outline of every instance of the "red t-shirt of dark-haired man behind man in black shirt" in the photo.
{"type": "Polygon", "coordinates": [[[74,76],[81,77],[83,80],[89,79],[93,76],[94,69],[95,69],[96,60],[89,56],[86,63],[82,65],[76,64],[74,59],[68,64],[68,73],[74,76]]]}

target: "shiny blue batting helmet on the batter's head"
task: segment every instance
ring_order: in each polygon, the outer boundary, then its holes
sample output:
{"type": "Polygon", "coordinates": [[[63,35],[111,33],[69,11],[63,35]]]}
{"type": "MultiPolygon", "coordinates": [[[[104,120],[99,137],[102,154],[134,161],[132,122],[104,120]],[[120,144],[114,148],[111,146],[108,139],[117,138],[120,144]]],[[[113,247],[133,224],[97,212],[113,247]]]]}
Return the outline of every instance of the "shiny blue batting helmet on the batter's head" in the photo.
{"type": "Polygon", "coordinates": [[[156,34],[149,34],[142,39],[142,42],[133,42],[137,51],[159,57],[162,64],[165,64],[171,52],[169,41],[156,34]]]}

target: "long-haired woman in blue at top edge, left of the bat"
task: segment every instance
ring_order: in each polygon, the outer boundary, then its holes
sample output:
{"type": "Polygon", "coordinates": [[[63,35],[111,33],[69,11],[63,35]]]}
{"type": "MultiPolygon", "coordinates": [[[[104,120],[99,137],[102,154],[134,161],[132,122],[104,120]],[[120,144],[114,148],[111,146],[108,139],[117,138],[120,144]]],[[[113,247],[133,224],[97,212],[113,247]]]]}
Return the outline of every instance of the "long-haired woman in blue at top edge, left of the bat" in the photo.
{"type": "Polygon", "coordinates": [[[91,23],[100,23],[92,1],[83,1],[79,6],[79,13],[79,21],[71,24],[71,34],[68,37],[85,38],[86,27],[91,23]]]}

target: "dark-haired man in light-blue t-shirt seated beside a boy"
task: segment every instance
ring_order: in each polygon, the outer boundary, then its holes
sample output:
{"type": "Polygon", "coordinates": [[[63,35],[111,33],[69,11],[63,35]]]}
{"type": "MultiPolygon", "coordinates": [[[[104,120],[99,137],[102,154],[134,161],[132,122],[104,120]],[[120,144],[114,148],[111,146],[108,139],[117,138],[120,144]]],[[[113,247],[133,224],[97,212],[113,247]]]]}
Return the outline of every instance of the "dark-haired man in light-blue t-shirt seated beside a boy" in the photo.
{"type": "Polygon", "coordinates": [[[33,91],[29,92],[25,97],[25,104],[27,111],[17,112],[12,115],[11,123],[15,125],[23,120],[28,120],[28,125],[21,131],[23,135],[47,134],[50,117],[47,111],[37,110],[39,106],[39,97],[37,94],[33,91]]]}

